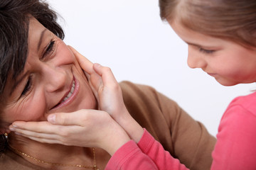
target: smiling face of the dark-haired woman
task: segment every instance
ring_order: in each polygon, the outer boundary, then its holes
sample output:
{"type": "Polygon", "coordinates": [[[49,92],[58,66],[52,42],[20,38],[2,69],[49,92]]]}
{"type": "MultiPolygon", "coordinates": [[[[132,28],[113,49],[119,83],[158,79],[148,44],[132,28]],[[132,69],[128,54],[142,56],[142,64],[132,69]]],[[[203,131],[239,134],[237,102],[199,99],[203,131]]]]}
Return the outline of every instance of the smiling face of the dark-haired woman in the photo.
{"type": "Polygon", "coordinates": [[[30,20],[28,57],[17,82],[7,98],[5,123],[40,121],[50,113],[96,108],[95,96],[73,52],[35,18],[30,20]]]}

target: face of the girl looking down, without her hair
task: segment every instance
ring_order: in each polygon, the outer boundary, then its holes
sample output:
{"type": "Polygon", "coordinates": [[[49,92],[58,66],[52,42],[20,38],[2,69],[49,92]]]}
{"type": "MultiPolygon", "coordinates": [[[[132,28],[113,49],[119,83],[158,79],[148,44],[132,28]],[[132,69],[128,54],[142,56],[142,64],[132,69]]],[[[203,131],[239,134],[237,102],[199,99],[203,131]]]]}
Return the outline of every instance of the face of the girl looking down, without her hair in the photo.
{"type": "Polygon", "coordinates": [[[188,66],[201,68],[224,86],[256,81],[256,48],[213,38],[169,22],[178,36],[188,44],[188,66]]]}

